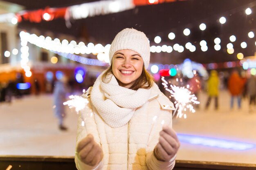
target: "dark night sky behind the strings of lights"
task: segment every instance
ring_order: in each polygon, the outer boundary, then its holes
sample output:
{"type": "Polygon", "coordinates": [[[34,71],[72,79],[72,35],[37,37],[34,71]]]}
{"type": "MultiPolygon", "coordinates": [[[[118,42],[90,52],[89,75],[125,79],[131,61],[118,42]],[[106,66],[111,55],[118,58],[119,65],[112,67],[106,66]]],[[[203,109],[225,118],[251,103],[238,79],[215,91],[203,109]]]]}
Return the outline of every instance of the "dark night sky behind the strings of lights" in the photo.
{"type": "MultiPolygon", "coordinates": [[[[83,0],[8,0],[25,6],[26,9],[40,9],[49,7],[66,7],[74,4],[81,4],[83,0]]],[[[91,18],[74,20],[72,27],[65,26],[65,20],[57,19],[50,22],[29,23],[21,22],[18,27],[26,29],[37,28],[42,31],[50,30],[56,34],[66,33],[73,35],[77,39],[84,38],[89,42],[110,44],[115,35],[126,27],[132,27],[143,31],[150,40],[150,45],[171,45],[178,43],[185,48],[186,42],[191,42],[196,46],[195,52],[185,49],[179,53],[151,53],[151,62],[162,64],[178,64],[185,58],[190,58],[195,62],[227,62],[238,61],[237,53],[244,56],[254,55],[256,51],[256,38],[249,38],[248,33],[253,31],[256,34],[256,0],[185,0],[157,5],[147,5],[136,7],[135,9],[120,13],[100,15],[91,18]],[[251,15],[245,14],[245,9],[252,9],[251,15]],[[220,24],[218,19],[225,16],[227,22],[220,24]],[[207,29],[201,31],[199,25],[205,23],[207,29]],[[189,28],[191,34],[185,36],[183,30],[189,28]],[[168,33],[174,32],[174,40],[168,39],[168,33]],[[155,44],[154,38],[159,35],[162,38],[160,44],[155,44]],[[235,52],[227,53],[227,43],[229,37],[236,35],[233,43],[235,52]],[[216,51],[213,40],[218,37],[222,49],[216,51]],[[207,42],[208,50],[201,51],[200,41],[207,42]],[[240,47],[241,42],[247,42],[247,48],[240,47]]],[[[86,42],[85,42],[86,44],[86,42]]]]}

